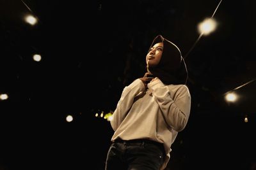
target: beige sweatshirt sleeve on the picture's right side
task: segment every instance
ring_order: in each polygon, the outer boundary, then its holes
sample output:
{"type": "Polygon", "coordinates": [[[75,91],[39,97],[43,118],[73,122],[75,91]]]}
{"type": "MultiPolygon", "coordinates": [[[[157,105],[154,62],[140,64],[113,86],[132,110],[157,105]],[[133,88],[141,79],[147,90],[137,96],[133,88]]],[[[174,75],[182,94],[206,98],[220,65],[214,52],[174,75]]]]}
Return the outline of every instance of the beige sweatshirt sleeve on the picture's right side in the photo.
{"type": "Polygon", "coordinates": [[[191,108],[191,96],[188,87],[182,85],[172,99],[170,90],[159,78],[148,83],[148,89],[152,92],[159,105],[166,123],[175,131],[182,131],[189,118],[191,108]]]}

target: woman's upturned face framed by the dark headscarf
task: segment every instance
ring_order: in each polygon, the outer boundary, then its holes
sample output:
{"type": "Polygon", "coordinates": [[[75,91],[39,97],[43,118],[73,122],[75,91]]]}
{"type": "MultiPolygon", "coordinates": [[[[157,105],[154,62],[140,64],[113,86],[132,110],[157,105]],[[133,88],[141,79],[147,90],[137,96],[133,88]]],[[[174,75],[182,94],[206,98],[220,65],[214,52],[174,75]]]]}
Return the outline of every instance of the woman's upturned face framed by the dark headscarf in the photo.
{"type": "Polygon", "coordinates": [[[156,67],[159,64],[159,61],[163,53],[163,43],[156,43],[152,48],[150,48],[147,54],[147,66],[156,67]]]}

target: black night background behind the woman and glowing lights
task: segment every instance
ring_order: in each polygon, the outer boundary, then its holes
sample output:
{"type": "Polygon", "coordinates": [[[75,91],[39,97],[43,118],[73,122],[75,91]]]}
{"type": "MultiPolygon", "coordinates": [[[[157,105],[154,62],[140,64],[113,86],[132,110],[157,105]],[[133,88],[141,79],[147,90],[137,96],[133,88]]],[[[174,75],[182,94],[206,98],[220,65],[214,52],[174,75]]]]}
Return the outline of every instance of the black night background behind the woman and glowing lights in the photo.
{"type": "Polygon", "coordinates": [[[9,96],[0,101],[1,170],[104,169],[113,130],[95,113],[115,110],[144,75],[158,34],[186,57],[192,99],[166,169],[256,168],[254,1],[0,2],[0,93],[9,96]],[[196,41],[214,10],[216,31],[196,41]],[[26,24],[27,13],[38,24],[26,24]],[[237,103],[224,101],[230,90],[237,103]]]}

